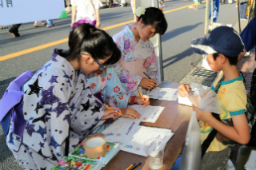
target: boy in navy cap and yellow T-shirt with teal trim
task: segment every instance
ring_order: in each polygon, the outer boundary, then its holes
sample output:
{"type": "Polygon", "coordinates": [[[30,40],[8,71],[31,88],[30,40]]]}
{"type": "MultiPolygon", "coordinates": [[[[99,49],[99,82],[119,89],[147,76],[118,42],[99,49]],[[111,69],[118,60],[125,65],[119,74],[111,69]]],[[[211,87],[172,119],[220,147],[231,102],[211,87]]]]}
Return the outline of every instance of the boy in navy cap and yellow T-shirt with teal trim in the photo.
{"type": "MultiPolygon", "coordinates": [[[[244,45],[233,28],[220,26],[214,29],[209,36],[192,40],[191,47],[195,53],[207,55],[207,61],[212,70],[215,72],[222,70],[223,75],[220,75],[211,87],[214,90],[222,79],[217,93],[221,101],[222,113],[216,117],[216,114],[202,111],[196,106],[193,106],[193,109],[197,113],[198,120],[201,121],[201,144],[204,155],[200,169],[224,170],[231,149],[228,145],[222,144],[223,139],[234,140],[239,144],[247,144],[250,140],[245,115],[246,88],[237,67],[238,55],[244,49],[244,45]],[[233,122],[233,126],[224,122],[233,122]],[[213,136],[214,131],[217,131],[217,134],[213,136]],[[212,140],[209,140],[210,136],[212,140]],[[205,144],[208,148],[203,148],[205,144]]],[[[182,84],[178,87],[181,97],[186,97],[188,90],[190,90],[190,85],[182,84]]]]}

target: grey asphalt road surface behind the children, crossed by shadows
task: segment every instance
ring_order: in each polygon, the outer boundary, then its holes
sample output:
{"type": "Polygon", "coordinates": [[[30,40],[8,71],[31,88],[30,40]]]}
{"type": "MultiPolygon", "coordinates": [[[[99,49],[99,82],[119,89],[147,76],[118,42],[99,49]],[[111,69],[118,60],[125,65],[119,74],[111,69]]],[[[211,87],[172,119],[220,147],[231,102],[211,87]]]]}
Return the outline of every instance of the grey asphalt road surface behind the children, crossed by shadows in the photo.
{"type": "MultiPolygon", "coordinates": [[[[182,6],[193,4],[183,2],[182,0],[173,0],[165,2],[164,11],[174,10],[182,6]]],[[[229,23],[234,26],[238,22],[238,10],[232,5],[220,6],[218,22],[229,23]]],[[[194,38],[203,36],[205,4],[198,6],[198,10],[189,10],[188,8],[176,10],[166,14],[166,20],[169,24],[166,34],[162,35],[163,50],[163,68],[165,81],[179,82],[186,76],[191,69],[191,63],[198,61],[200,56],[193,53],[190,49],[190,41],[194,38]]],[[[127,22],[133,19],[130,6],[124,8],[111,8],[100,10],[101,28],[113,26],[121,22],[127,22]]],[[[7,30],[0,30],[0,59],[10,53],[15,53],[24,49],[30,49],[38,45],[55,42],[67,38],[70,31],[69,18],[54,20],[55,26],[46,28],[41,26],[34,28],[34,23],[22,24],[20,27],[21,38],[12,38],[7,30]]],[[[122,30],[123,26],[118,26],[106,32],[113,36],[122,30]]],[[[2,97],[6,87],[26,70],[35,72],[46,61],[50,60],[51,52],[54,48],[67,49],[67,43],[50,46],[46,49],[26,53],[18,57],[13,57],[0,61],[0,97],[2,97]]],[[[6,147],[6,140],[0,128],[0,170],[22,169],[14,162],[14,158],[6,147]]]]}

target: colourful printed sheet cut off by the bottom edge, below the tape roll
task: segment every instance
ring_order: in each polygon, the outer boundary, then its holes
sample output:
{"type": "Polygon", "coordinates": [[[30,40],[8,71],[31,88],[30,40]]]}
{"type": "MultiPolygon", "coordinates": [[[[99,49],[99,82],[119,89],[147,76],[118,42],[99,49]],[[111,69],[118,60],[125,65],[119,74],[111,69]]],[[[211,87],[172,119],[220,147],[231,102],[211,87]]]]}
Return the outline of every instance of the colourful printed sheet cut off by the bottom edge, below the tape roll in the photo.
{"type": "Polygon", "coordinates": [[[68,169],[86,169],[86,170],[100,170],[104,164],[92,160],[84,160],[76,157],[63,157],[62,160],[55,164],[51,170],[68,170],[68,169]]]}

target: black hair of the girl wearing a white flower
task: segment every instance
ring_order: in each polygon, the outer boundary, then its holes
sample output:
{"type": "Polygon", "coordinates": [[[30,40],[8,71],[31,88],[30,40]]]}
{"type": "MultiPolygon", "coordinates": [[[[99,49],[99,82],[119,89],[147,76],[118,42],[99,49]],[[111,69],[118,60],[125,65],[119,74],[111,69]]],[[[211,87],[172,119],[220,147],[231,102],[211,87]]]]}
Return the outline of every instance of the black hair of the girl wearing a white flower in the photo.
{"type": "Polygon", "coordinates": [[[156,34],[165,34],[168,24],[166,22],[165,15],[162,13],[162,10],[154,7],[146,8],[145,14],[142,14],[140,17],[138,17],[138,21],[141,19],[145,26],[154,26],[156,29],[156,34]]]}

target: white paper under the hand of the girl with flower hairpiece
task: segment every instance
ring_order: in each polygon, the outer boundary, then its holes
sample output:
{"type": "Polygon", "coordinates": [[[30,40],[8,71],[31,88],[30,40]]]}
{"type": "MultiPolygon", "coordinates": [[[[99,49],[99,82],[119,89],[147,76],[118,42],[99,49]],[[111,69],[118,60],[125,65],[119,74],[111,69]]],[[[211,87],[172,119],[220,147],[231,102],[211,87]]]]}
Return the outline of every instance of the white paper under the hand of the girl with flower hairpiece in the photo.
{"type": "Polygon", "coordinates": [[[156,89],[153,89],[147,95],[153,99],[176,101],[178,98],[178,89],[157,87],[156,89]]]}

